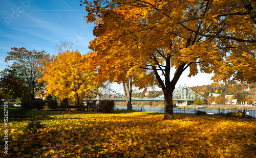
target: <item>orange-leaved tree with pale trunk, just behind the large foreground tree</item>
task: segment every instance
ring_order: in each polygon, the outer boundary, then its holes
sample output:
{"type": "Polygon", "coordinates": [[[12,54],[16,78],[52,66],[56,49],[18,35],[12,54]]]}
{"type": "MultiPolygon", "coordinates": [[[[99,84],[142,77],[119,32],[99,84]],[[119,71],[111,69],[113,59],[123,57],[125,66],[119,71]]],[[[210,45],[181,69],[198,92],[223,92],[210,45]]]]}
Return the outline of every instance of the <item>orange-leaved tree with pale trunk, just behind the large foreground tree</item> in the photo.
{"type": "MultiPolygon", "coordinates": [[[[95,31],[94,34],[97,35],[98,33],[95,31]]],[[[90,44],[89,48],[101,49],[98,46],[99,44],[90,44]]],[[[137,60],[125,50],[115,47],[104,54],[94,52],[94,60],[91,63],[97,68],[96,80],[99,83],[109,81],[123,86],[127,110],[132,110],[133,86],[142,89],[156,85],[154,73],[141,69],[137,60]]]]}

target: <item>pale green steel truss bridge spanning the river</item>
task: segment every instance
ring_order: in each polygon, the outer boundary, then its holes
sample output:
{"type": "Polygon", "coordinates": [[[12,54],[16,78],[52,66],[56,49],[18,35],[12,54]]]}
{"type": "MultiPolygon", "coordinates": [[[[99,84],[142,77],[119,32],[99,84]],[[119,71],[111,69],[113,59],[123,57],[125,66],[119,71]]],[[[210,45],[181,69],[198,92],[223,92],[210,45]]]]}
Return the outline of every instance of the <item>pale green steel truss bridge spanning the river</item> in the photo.
{"type": "MultiPolygon", "coordinates": [[[[114,101],[126,101],[124,94],[121,94],[113,89],[108,87],[101,89],[100,95],[91,99],[91,101],[97,100],[114,100],[114,101]]],[[[193,90],[189,89],[186,86],[178,87],[173,92],[173,101],[194,101],[195,97],[198,97],[198,100],[205,100],[203,96],[196,94],[193,90]]],[[[156,98],[134,98],[132,101],[164,101],[164,95],[161,95],[156,98]]]]}

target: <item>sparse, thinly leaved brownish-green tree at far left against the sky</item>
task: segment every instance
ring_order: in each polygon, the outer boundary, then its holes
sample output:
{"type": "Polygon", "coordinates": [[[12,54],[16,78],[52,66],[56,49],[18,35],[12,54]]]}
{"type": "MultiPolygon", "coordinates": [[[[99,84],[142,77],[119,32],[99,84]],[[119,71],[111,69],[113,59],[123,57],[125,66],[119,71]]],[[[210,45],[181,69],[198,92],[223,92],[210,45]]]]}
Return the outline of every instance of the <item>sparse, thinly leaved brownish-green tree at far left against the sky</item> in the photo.
{"type": "MultiPolygon", "coordinates": [[[[49,57],[44,50],[35,51],[22,48],[11,48],[12,51],[7,52],[8,56],[5,58],[5,62],[12,62],[8,65],[9,68],[5,69],[2,74],[8,71],[15,71],[15,76],[19,79],[18,84],[23,84],[26,92],[30,94],[30,98],[33,100],[35,93],[38,92],[44,86],[43,83],[37,82],[38,78],[42,76],[41,66],[42,61],[49,57]]],[[[9,76],[10,77],[10,76],[9,76]]],[[[12,78],[13,82],[17,79],[12,78]]]]}

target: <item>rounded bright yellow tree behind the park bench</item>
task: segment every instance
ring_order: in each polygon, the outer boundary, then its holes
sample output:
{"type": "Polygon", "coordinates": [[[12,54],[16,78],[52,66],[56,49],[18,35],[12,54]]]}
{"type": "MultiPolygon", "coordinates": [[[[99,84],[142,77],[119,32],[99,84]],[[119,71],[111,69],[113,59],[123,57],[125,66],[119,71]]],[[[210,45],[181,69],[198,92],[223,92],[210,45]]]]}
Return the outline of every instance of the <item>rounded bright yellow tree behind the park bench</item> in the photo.
{"type": "MultiPolygon", "coordinates": [[[[55,58],[55,57],[54,57],[55,58]]],[[[75,102],[85,96],[97,94],[98,83],[94,81],[96,72],[91,69],[91,54],[80,55],[79,51],[66,51],[58,54],[56,60],[46,64],[44,76],[46,95],[58,96],[60,99],[71,98],[75,102]]]]}

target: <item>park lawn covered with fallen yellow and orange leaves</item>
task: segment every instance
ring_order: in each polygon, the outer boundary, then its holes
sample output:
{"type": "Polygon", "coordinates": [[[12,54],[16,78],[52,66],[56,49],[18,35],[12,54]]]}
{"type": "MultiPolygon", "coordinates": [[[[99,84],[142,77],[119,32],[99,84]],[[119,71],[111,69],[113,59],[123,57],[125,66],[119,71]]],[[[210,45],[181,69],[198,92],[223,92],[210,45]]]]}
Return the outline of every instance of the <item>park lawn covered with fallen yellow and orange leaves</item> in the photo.
{"type": "Polygon", "coordinates": [[[27,115],[39,116],[46,128],[36,138],[25,131],[28,118],[10,120],[10,157],[256,156],[254,118],[176,114],[176,120],[163,120],[163,114],[147,112],[27,115]]]}

